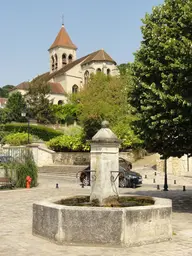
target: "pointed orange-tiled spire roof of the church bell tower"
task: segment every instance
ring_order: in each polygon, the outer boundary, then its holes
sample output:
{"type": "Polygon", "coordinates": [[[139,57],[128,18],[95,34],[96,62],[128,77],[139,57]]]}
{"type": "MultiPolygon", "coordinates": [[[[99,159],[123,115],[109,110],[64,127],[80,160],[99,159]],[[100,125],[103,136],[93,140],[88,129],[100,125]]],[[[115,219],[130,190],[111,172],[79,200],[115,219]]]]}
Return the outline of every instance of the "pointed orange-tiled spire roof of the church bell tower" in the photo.
{"type": "Polygon", "coordinates": [[[53,42],[49,50],[58,46],[67,47],[75,50],[77,49],[77,46],[74,45],[74,43],[71,41],[71,38],[69,37],[64,25],[62,25],[55,41],[53,42]]]}

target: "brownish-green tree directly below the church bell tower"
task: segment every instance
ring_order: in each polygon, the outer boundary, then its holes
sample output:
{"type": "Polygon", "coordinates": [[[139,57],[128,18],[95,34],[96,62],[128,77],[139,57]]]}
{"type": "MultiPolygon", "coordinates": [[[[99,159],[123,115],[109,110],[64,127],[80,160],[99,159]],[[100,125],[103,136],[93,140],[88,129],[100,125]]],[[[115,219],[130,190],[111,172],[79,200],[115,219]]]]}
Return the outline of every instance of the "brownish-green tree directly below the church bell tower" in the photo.
{"type": "Polygon", "coordinates": [[[26,94],[29,116],[38,123],[54,123],[55,118],[49,100],[50,86],[43,79],[34,79],[26,94]]]}

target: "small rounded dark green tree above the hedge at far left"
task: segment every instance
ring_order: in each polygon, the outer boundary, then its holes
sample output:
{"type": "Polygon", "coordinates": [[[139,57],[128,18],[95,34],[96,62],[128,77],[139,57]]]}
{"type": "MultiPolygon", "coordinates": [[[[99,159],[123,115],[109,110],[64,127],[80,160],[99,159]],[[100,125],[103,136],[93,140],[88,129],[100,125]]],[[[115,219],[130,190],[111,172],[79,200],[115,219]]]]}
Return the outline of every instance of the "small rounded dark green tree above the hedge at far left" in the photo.
{"type": "Polygon", "coordinates": [[[23,117],[21,116],[22,111],[25,109],[26,104],[23,96],[20,92],[12,93],[6,104],[6,108],[4,110],[4,114],[7,115],[9,120],[20,122],[23,121],[23,117]]]}

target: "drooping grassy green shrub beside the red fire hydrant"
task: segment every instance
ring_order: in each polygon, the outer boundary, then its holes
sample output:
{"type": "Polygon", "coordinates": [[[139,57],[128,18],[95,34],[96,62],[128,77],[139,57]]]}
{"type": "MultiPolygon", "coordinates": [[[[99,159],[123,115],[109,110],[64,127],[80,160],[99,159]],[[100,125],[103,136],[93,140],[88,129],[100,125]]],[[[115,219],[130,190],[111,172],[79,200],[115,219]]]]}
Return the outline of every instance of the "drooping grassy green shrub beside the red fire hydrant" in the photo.
{"type": "Polygon", "coordinates": [[[38,168],[30,150],[27,150],[20,159],[4,164],[4,167],[7,176],[16,181],[16,187],[25,188],[27,176],[32,178],[31,187],[37,186],[38,168]]]}

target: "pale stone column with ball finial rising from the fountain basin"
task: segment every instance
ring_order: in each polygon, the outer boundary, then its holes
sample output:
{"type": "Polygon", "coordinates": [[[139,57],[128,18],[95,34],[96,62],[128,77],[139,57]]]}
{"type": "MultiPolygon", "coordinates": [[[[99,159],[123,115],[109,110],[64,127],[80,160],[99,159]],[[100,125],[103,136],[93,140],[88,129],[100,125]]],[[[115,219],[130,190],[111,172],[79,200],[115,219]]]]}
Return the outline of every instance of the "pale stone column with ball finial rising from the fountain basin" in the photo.
{"type": "Polygon", "coordinates": [[[102,205],[109,197],[119,194],[119,145],[120,140],[108,128],[107,121],[91,141],[91,195],[90,201],[102,205]]]}

